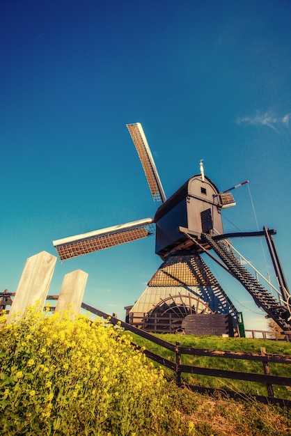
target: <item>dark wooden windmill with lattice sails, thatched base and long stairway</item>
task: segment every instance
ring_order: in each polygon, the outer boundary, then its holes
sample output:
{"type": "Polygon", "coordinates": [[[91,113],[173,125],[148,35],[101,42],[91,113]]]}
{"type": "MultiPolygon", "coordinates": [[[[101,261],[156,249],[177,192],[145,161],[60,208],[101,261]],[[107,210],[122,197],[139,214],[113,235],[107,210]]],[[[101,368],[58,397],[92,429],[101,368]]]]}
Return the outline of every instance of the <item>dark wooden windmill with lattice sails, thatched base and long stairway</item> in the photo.
{"type": "Polygon", "coordinates": [[[248,181],[219,192],[212,180],[205,176],[200,161],[200,173],[189,178],[167,199],[143,127],[134,123],[127,124],[127,129],[141,160],[152,198],[162,204],[153,218],[54,240],[60,260],[147,238],[155,233],[155,253],[163,263],[134,305],[125,308],[127,320],[132,325],[150,332],[175,332],[185,320],[199,318],[199,322],[206,320],[207,325],[213,320],[213,332],[219,330],[219,322],[226,322],[231,334],[239,322],[239,313],[201,257],[205,253],[242,283],[267,316],[282,329],[289,329],[290,293],[272,238],[276,231],[264,228],[262,232],[223,234],[221,210],[235,205],[230,190],[248,181]],[[239,261],[241,255],[229,241],[229,238],[238,236],[265,236],[280,287],[276,290],[277,298],[260,284],[258,274],[251,274],[239,261]],[[217,256],[213,256],[211,251],[217,256]],[[207,318],[201,318],[203,315],[207,318]]]}

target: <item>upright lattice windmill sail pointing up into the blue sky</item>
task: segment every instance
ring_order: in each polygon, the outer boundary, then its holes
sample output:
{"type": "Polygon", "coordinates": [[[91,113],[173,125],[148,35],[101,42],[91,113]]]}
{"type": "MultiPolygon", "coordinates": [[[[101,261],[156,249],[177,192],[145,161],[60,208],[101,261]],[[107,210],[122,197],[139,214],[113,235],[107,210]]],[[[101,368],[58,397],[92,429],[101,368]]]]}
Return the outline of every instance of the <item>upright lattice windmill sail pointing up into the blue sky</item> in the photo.
{"type": "Polygon", "coordinates": [[[166,195],[146,135],[143,132],[143,127],[140,123],[127,124],[126,126],[132,137],[132,141],[134,141],[134,146],[139,155],[139,159],[141,160],[143,171],[146,174],[148,186],[152,193],[152,198],[154,201],[162,201],[162,203],[164,203],[164,201],[166,201],[166,195]]]}

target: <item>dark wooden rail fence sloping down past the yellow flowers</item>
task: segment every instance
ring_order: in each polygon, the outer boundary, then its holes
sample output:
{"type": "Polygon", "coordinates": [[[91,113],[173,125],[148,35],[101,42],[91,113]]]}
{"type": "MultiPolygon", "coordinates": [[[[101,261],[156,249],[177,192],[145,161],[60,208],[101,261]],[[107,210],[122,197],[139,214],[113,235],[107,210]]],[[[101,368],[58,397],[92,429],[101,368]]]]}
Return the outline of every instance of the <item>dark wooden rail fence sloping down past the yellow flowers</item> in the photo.
{"type": "MultiPolygon", "coordinates": [[[[291,364],[291,356],[290,355],[270,355],[265,352],[265,348],[261,348],[261,352],[237,352],[237,351],[221,351],[221,350],[207,350],[201,348],[190,348],[183,347],[180,345],[180,342],[176,342],[175,344],[164,341],[161,338],[157,338],[156,336],[144,332],[141,329],[137,329],[136,327],[127,324],[127,322],[123,322],[118,320],[118,318],[112,316],[110,317],[107,313],[99,311],[98,309],[93,308],[92,306],[88,306],[88,304],[82,303],[81,307],[94,313],[97,316],[108,319],[110,318],[110,322],[113,325],[119,323],[121,327],[125,330],[128,330],[134,334],[137,334],[143,338],[148,339],[152,343],[156,343],[167,350],[175,353],[175,362],[170,361],[164,357],[161,357],[150,350],[143,350],[145,355],[156,361],[158,364],[165,366],[166,368],[171,369],[175,373],[176,382],[178,386],[185,385],[182,382],[182,373],[190,373],[197,375],[207,375],[211,377],[225,377],[231,380],[244,380],[248,382],[259,382],[266,385],[266,396],[259,395],[249,395],[244,392],[234,392],[226,389],[214,389],[207,388],[201,386],[193,386],[191,384],[187,384],[187,387],[193,391],[205,392],[208,394],[213,394],[214,391],[221,392],[223,395],[230,396],[231,398],[256,398],[256,400],[261,403],[272,403],[279,404],[291,407],[291,400],[285,400],[283,398],[275,398],[273,385],[279,386],[291,386],[291,377],[281,377],[277,375],[270,375],[269,371],[269,363],[274,362],[277,364],[291,364]],[[182,364],[182,355],[192,355],[192,356],[208,356],[215,357],[217,359],[244,359],[249,361],[260,361],[262,362],[262,368],[264,370],[264,374],[258,373],[244,373],[239,371],[226,371],[223,369],[215,369],[215,368],[201,368],[200,366],[190,366],[182,364]]],[[[139,347],[137,347],[139,348],[139,347]]]]}

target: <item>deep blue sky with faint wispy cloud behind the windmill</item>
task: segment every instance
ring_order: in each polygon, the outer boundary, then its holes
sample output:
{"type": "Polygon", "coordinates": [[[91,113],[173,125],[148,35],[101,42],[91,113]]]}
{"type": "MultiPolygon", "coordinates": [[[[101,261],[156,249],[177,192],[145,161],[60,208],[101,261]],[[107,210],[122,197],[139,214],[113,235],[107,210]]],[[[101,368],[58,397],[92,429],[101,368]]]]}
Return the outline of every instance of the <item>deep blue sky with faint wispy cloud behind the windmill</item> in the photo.
{"type": "MultiPolygon", "coordinates": [[[[1,1],[1,290],[29,256],[56,254],[52,240],[153,217],[125,127],[136,122],[166,196],[200,159],[221,191],[250,180],[224,229],[276,228],[291,283],[290,13],[287,0],[1,1]]],[[[266,274],[260,240],[234,245],[266,274]]],[[[58,261],[49,293],[80,268],[84,301],[123,318],[161,263],[154,238],[58,261]]],[[[263,327],[212,267],[246,328],[263,327]]]]}

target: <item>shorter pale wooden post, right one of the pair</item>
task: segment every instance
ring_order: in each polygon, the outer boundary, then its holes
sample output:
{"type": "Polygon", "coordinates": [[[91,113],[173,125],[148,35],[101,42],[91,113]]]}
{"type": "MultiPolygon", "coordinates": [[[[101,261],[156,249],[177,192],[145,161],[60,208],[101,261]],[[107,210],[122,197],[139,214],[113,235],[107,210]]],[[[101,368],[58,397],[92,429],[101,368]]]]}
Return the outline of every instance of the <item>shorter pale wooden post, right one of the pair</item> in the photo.
{"type": "Polygon", "coordinates": [[[88,274],[82,270],[76,270],[65,274],[61,293],[56,304],[56,312],[69,311],[77,315],[81,309],[83,295],[86,288],[88,274]]]}

